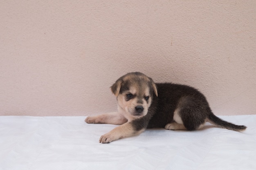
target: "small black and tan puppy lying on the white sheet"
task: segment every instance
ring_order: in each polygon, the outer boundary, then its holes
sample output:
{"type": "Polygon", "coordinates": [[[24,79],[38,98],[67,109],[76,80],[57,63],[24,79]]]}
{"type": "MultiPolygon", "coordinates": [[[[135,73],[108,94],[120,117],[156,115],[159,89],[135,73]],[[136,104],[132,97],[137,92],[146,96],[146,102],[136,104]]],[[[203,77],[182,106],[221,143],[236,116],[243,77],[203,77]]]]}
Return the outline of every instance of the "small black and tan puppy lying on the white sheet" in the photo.
{"type": "Polygon", "coordinates": [[[247,128],[215,116],[204,95],[187,85],[154,83],[145,74],[131,72],[121,76],[111,90],[117,97],[118,111],[85,119],[87,123],[121,125],[102,135],[100,143],[139,135],[146,128],[193,131],[205,122],[234,131],[247,128]]]}

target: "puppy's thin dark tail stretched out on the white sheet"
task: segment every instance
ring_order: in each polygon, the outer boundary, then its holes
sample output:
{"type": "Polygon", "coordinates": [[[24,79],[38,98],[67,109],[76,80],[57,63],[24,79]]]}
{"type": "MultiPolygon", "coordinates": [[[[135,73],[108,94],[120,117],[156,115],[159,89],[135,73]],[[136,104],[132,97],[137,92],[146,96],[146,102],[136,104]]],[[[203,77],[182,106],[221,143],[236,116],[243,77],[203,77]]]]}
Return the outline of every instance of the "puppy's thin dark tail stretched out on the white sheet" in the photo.
{"type": "Polygon", "coordinates": [[[216,126],[218,126],[220,128],[225,128],[225,129],[229,129],[229,130],[233,130],[233,131],[244,131],[247,128],[246,126],[243,126],[243,125],[240,126],[240,125],[232,124],[225,120],[222,120],[222,119],[218,118],[217,116],[215,116],[213,113],[211,113],[208,116],[208,122],[215,124],[216,126]]]}

